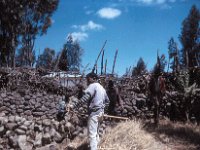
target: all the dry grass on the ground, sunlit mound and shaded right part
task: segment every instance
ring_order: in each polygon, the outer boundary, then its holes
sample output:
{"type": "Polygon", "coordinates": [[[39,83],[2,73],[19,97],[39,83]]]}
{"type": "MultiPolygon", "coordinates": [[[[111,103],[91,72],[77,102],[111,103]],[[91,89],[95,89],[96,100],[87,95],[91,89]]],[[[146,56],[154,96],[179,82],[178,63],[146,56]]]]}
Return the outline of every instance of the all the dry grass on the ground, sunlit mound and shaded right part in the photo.
{"type": "MultiPolygon", "coordinates": [[[[87,140],[74,140],[74,150],[87,150],[87,140]]],[[[108,128],[99,149],[105,150],[199,150],[200,127],[194,124],[162,120],[127,121],[108,128]]]]}

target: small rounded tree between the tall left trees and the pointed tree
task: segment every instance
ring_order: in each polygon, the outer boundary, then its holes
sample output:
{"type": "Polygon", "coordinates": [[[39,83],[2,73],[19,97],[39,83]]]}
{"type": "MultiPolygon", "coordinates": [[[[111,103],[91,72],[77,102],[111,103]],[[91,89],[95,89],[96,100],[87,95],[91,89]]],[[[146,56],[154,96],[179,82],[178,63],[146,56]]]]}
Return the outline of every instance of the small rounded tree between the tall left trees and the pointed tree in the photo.
{"type": "Polygon", "coordinates": [[[55,65],[55,50],[45,48],[43,54],[38,57],[37,67],[53,69],[55,65]]]}

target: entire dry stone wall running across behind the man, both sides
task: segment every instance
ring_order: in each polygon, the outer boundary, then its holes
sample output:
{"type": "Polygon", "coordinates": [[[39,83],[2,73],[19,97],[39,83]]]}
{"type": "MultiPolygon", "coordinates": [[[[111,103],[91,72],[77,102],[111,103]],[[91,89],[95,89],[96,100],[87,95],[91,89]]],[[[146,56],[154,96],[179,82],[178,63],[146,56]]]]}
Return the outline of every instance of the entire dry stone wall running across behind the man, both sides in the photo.
{"type": "MultiPolygon", "coordinates": [[[[59,84],[39,78],[41,80],[37,82],[29,82],[31,86],[28,87],[26,80],[18,81],[15,78],[7,90],[0,90],[0,149],[38,149],[52,143],[56,145],[64,140],[69,141],[77,136],[87,136],[87,115],[84,115],[87,106],[77,108],[77,112],[68,112],[63,120],[58,121],[58,102],[63,91],[60,93],[59,84]],[[36,86],[38,84],[39,88],[36,86]]],[[[123,99],[123,108],[115,108],[118,116],[145,119],[153,117],[153,105],[148,92],[149,79],[149,75],[116,79],[123,99]]],[[[200,116],[200,90],[184,94],[176,90],[171,81],[166,84],[161,116],[181,120],[189,112],[190,119],[197,120],[200,116]]],[[[64,91],[68,96],[77,94],[76,88],[64,91]]],[[[71,97],[71,100],[77,99],[71,97]]],[[[100,132],[103,133],[106,126],[115,121],[105,118],[100,132]]]]}

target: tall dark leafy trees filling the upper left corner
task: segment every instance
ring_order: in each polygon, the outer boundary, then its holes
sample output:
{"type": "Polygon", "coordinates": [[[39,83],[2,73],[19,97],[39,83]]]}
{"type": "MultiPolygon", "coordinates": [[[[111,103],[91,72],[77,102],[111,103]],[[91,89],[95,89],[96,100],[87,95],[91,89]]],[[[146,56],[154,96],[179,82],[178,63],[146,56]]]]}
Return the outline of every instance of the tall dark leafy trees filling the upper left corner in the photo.
{"type": "Polygon", "coordinates": [[[37,35],[46,33],[59,0],[0,1],[0,65],[15,66],[18,44],[23,64],[33,64],[33,47],[37,35]],[[12,64],[11,64],[12,63],[12,64]]]}

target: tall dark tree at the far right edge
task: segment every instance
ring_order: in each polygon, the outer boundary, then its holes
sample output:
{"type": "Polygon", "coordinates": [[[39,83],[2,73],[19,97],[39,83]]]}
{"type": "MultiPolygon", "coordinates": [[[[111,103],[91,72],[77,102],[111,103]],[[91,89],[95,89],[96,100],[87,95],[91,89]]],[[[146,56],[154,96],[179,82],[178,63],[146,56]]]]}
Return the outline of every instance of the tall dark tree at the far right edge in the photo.
{"type": "Polygon", "coordinates": [[[192,6],[188,17],[182,23],[180,41],[182,43],[182,65],[194,67],[199,65],[199,26],[200,12],[196,6],[192,6]]]}

